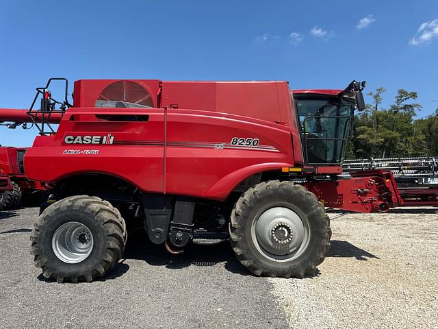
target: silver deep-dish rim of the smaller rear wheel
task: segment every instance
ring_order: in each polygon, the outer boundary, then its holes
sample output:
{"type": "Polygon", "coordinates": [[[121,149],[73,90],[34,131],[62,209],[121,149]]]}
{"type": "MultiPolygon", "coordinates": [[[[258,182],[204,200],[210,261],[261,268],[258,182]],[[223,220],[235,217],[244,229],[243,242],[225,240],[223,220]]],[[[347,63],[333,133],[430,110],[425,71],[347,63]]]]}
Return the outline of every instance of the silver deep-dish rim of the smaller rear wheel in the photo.
{"type": "Polygon", "coordinates": [[[82,223],[69,221],[62,224],[52,237],[52,249],[64,263],[77,264],[90,256],[93,235],[82,223]]]}

